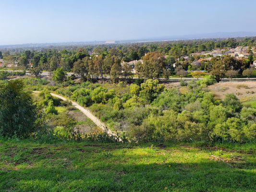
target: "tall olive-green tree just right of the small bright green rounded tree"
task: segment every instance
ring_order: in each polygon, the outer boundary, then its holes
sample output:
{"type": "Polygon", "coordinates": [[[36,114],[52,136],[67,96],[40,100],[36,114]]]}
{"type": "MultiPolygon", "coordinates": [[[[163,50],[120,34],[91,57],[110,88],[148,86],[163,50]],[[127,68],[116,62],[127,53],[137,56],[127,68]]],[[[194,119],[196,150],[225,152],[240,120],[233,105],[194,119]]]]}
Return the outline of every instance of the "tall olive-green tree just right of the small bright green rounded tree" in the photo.
{"type": "Polygon", "coordinates": [[[77,60],[74,63],[73,72],[80,75],[83,81],[86,81],[88,77],[89,62],[90,58],[85,57],[83,60],[77,60]]]}

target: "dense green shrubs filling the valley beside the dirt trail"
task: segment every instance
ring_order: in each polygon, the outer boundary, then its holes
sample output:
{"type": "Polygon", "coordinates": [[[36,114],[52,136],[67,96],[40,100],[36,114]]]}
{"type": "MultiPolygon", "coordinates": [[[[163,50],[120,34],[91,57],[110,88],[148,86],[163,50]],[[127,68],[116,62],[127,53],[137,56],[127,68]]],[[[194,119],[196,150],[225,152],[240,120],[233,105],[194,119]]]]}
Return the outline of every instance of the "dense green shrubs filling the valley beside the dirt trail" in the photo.
{"type": "MultiPolygon", "coordinates": [[[[4,86],[10,86],[14,82],[8,82],[4,86]]],[[[43,112],[48,116],[53,115],[55,120],[61,118],[59,122],[67,122],[66,126],[63,123],[59,126],[70,133],[70,138],[73,134],[71,130],[75,126],[72,125],[72,120],[69,124],[68,119],[58,117],[55,108],[67,106],[68,103],[53,98],[49,92],[66,96],[88,107],[108,128],[125,132],[131,141],[244,143],[256,138],[256,109],[243,106],[234,94],[217,100],[213,93],[207,91],[207,85],[216,82],[212,76],[182,83],[180,88],[171,89],[152,79],[130,85],[124,82],[79,84],[70,80],[52,86],[50,82],[42,79],[26,79],[24,82],[27,88],[42,91],[40,103],[41,108],[45,108],[43,112]]],[[[2,106],[1,111],[5,108],[2,106]]],[[[2,130],[4,127],[1,124],[2,130]]],[[[51,127],[51,130],[54,129],[59,129],[57,124],[51,127]]],[[[81,135],[75,135],[80,139],[81,135]]]]}

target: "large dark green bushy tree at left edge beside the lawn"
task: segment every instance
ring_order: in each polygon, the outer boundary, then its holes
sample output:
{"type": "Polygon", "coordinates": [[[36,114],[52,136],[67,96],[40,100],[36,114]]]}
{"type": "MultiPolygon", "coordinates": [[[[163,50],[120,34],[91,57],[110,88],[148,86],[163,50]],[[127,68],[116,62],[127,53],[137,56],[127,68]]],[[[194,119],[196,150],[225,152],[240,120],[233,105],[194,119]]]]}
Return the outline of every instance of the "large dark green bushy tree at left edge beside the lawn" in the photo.
{"type": "Polygon", "coordinates": [[[21,80],[0,86],[0,104],[0,135],[25,138],[38,128],[38,108],[21,80]]]}

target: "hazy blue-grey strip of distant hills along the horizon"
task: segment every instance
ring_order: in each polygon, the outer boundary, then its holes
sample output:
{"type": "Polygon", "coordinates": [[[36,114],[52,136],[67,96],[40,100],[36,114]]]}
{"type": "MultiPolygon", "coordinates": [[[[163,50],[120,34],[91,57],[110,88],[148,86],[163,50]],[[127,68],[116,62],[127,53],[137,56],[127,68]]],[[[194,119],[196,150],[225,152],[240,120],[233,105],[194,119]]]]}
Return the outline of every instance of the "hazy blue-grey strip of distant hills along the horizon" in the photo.
{"type": "Polygon", "coordinates": [[[175,40],[193,40],[193,39],[212,39],[212,38],[231,38],[231,37],[245,37],[256,36],[256,32],[217,32],[206,34],[190,34],[177,36],[162,36],[145,39],[131,39],[131,40],[111,40],[111,41],[85,41],[85,42],[64,42],[64,43],[28,43],[19,45],[0,45],[3,48],[50,48],[50,47],[68,47],[68,46],[85,46],[85,45],[103,45],[103,44],[121,44],[121,43],[139,43],[139,42],[156,42],[156,41],[175,41],[175,40]]]}

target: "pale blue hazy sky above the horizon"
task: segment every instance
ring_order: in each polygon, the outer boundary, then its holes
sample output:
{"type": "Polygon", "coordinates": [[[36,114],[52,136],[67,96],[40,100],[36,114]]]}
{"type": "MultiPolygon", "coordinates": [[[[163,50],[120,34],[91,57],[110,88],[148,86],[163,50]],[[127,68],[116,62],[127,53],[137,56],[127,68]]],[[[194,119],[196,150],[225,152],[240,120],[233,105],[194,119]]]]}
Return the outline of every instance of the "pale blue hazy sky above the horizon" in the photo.
{"type": "Polygon", "coordinates": [[[256,0],[0,0],[0,45],[256,32],[256,0]]]}

